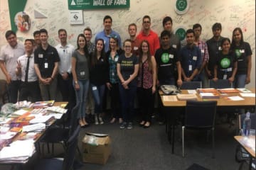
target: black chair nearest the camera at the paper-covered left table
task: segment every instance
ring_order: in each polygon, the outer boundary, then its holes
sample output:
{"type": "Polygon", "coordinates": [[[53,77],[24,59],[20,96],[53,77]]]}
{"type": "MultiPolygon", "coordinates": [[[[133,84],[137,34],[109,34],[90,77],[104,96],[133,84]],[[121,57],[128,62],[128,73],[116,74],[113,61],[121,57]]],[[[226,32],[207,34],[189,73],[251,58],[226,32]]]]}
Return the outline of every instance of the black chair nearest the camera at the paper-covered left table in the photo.
{"type": "Polygon", "coordinates": [[[78,135],[80,126],[75,128],[75,131],[69,137],[67,148],[65,149],[65,157],[63,158],[50,158],[40,159],[36,164],[35,170],[71,170],[75,161],[75,149],[78,147],[78,135]]]}

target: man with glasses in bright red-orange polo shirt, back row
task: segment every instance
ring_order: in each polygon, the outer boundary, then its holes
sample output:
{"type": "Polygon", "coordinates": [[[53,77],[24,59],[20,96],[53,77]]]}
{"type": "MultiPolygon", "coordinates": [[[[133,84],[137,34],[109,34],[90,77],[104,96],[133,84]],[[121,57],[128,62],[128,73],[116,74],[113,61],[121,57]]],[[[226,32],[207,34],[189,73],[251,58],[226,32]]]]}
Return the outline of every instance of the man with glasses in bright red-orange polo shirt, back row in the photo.
{"type": "Polygon", "coordinates": [[[154,55],[157,49],[160,47],[158,35],[151,30],[151,18],[150,16],[144,16],[142,19],[142,31],[137,35],[137,39],[140,41],[147,40],[149,42],[150,54],[154,55]]]}

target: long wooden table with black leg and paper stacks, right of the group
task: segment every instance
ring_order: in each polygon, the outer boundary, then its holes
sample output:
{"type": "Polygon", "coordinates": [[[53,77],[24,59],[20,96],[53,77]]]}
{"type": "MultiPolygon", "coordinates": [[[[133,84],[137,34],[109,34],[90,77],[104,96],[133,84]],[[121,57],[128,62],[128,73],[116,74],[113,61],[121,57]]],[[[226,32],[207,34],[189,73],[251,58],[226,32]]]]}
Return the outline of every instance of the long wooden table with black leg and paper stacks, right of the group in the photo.
{"type": "MultiPolygon", "coordinates": [[[[249,89],[253,94],[255,94],[255,88],[249,89]]],[[[188,94],[188,90],[181,90],[181,94],[188,94]]],[[[186,107],[186,101],[179,101],[179,100],[166,100],[166,95],[163,93],[163,91],[159,90],[159,96],[161,101],[161,107],[164,110],[164,113],[166,113],[166,132],[168,136],[168,140],[172,145],[171,153],[174,153],[174,128],[176,125],[176,119],[177,117],[182,113],[182,111],[185,111],[186,107]]],[[[240,101],[233,101],[230,100],[230,96],[240,96],[240,93],[228,93],[228,94],[220,94],[220,98],[208,98],[203,99],[199,96],[198,93],[196,93],[197,101],[217,101],[217,109],[218,111],[229,108],[255,108],[255,96],[254,97],[242,97],[244,100],[240,101]]],[[[241,97],[241,96],[240,96],[241,97]]]]}

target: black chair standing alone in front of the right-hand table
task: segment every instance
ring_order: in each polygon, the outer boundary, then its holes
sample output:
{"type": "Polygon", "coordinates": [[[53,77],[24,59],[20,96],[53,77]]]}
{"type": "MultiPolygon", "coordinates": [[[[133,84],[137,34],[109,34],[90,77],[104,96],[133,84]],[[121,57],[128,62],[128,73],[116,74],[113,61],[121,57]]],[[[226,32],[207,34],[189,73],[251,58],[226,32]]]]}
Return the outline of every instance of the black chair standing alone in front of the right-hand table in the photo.
{"type": "Polygon", "coordinates": [[[214,129],[217,101],[186,101],[184,125],[182,126],[182,156],[184,157],[184,131],[211,130],[212,157],[214,158],[214,129]]]}

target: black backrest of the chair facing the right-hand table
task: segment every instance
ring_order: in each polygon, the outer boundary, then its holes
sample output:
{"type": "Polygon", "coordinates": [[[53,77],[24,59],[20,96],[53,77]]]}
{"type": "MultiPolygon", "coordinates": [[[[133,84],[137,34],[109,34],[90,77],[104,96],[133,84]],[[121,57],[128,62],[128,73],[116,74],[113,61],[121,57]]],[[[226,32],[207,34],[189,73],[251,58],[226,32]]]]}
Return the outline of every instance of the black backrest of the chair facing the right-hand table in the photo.
{"type": "Polygon", "coordinates": [[[186,101],[185,126],[187,128],[215,127],[217,101],[186,101]]]}

